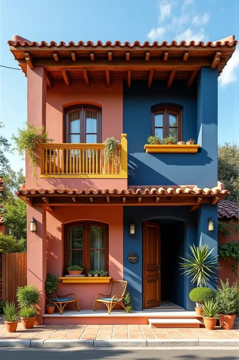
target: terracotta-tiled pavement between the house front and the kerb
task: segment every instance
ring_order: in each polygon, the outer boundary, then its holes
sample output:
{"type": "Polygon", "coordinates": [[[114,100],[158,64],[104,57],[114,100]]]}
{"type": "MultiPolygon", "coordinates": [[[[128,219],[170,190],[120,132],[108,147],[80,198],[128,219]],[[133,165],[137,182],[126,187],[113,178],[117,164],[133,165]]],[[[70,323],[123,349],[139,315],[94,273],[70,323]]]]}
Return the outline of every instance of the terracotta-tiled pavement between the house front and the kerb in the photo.
{"type": "Polygon", "coordinates": [[[0,340],[7,339],[238,339],[239,326],[233,330],[150,329],[148,325],[44,325],[25,330],[18,324],[17,332],[8,333],[0,322],[0,340]]]}

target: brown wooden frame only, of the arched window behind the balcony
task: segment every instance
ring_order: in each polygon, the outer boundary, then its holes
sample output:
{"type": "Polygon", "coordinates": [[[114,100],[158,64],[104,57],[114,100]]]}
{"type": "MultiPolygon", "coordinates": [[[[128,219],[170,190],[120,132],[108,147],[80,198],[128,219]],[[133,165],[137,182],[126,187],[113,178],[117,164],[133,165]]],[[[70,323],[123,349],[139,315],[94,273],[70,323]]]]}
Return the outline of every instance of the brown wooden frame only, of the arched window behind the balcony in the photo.
{"type": "Polygon", "coordinates": [[[96,112],[96,121],[97,121],[97,143],[101,143],[101,108],[89,104],[82,105],[73,105],[65,108],[64,110],[64,140],[65,143],[70,144],[71,135],[79,135],[80,134],[80,143],[86,143],[86,135],[90,135],[90,133],[86,133],[86,111],[94,111],[96,112]],[[70,133],[70,125],[69,125],[69,114],[72,112],[80,111],[80,133],[70,133]]]}

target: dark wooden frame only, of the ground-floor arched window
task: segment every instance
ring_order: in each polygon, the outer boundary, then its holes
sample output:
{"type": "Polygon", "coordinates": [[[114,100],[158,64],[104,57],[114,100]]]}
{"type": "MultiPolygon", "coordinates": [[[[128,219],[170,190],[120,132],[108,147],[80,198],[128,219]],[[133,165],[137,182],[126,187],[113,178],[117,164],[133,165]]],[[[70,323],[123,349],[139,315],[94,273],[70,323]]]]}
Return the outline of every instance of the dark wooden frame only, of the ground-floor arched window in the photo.
{"type": "MultiPolygon", "coordinates": [[[[104,232],[104,270],[109,271],[109,231],[108,224],[100,221],[74,221],[64,225],[64,273],[67,274],[69,266],[69,236],[68,228],[83,225],[83,273],[90,271],[90,251],[97,250],[90,248],[90,226],[99,226],[105,229],[104,232]]],[[[78,249],[75,249],[78,250],[78,249]]],[[[101,250],[101,249],[99,249],[101,250]]]]}

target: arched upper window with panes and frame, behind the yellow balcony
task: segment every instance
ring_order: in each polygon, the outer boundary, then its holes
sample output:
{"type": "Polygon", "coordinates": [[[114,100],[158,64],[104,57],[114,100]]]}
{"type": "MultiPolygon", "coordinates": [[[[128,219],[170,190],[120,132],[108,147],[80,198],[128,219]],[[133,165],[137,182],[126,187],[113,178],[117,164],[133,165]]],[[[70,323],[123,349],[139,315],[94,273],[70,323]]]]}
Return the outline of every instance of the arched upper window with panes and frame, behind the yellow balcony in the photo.
{"type": "Polygon", "coordinates": [[[71,107],[65,113],[66,143],[100,143],[101,116],[97,107],[71,107]]]}

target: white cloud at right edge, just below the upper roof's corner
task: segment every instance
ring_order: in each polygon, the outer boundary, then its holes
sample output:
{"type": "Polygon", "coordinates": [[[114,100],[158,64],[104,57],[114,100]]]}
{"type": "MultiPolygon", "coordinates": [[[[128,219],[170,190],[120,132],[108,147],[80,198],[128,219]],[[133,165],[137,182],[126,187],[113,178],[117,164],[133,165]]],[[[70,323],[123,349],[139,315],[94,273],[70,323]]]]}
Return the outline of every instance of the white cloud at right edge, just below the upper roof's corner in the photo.
{"type": "Polygon", "coordinates": [[[219,77],[220,86],[226,86],[238,81],[238,69],[239,69],[239,48],[237,47],[227,65],[222,71],[219,77]]]}

